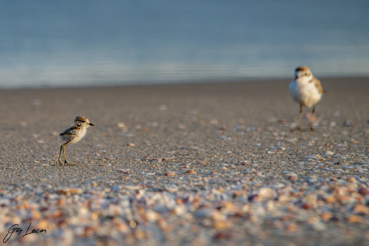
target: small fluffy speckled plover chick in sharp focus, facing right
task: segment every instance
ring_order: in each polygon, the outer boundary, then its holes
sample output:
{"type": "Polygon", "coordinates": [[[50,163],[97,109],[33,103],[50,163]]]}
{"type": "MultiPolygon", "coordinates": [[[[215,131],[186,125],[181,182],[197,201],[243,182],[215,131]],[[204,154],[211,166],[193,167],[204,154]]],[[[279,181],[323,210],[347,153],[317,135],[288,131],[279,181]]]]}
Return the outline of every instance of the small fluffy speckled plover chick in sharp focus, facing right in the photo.
{"type": "Polygon", "coordinates": [[[72,165],[68,163],[67,158],[65,156],[65,146],[69,143],[76,143],[81,138],[83,138],[89,126],[94,126],[94,124],[90,123],[89,119],[87,119],[85,116],[77,116],[76,119],[74,120],[73,126],[69,127],[68,129],[66,129],[60,134],[60,138],[66,142],[60,146],[60,154],[59,154],[59,159],[56,162],[57,164],[59,163],[63,165],[60,160],[62,157],[62,151],[63,151],[64,164],[72,165]]]}

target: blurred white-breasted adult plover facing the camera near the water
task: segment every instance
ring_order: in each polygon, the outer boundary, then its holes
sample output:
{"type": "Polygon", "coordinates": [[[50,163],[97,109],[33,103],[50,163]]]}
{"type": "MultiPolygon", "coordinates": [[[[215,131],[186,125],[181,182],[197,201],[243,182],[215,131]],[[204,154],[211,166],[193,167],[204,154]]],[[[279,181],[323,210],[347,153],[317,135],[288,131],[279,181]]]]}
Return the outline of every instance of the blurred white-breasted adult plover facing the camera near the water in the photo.
{"type": "Polygon", "coordinates": [[[300,104],[300,117],[299,124],[297,124],[297,130],[301,130],[300,124],[302,120],[303,107],[313,107],[310,125],[310,130],[313,131],[315,104],[320,101],[323,93],[325,92],[320,81],[313,76],[310,68],[307,66],[297,67],[295,69],[295,78],[291,82],[289,89],[293,99],[300,104]]]}

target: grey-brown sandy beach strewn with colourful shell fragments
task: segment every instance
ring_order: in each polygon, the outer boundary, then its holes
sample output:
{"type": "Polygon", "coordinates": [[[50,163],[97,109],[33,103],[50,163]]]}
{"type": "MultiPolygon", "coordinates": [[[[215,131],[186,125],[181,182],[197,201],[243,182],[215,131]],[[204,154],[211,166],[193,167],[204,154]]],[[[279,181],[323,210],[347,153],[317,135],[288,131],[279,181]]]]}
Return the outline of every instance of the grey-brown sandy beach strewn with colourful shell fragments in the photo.
{"type": "Polygon", "coordinates": [[[313,132],[290,79],[0,90],[0,238],[369,245],[369,78],[320,79],[313,132]]]}

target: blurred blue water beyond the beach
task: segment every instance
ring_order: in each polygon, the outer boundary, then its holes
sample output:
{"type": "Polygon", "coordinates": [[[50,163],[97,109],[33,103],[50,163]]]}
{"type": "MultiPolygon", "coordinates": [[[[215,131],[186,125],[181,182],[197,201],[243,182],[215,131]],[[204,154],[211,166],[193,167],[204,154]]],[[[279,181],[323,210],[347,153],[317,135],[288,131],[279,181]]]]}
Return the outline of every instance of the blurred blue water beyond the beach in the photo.
{"type": "Polygon", "coordinates": [[[369,75],[369,1],[0,1],[0,88],[369,75]]]}

